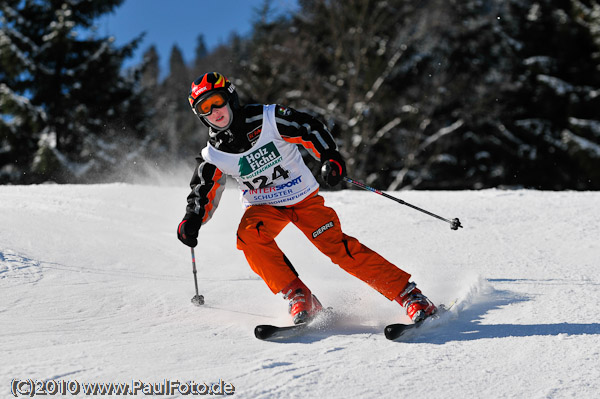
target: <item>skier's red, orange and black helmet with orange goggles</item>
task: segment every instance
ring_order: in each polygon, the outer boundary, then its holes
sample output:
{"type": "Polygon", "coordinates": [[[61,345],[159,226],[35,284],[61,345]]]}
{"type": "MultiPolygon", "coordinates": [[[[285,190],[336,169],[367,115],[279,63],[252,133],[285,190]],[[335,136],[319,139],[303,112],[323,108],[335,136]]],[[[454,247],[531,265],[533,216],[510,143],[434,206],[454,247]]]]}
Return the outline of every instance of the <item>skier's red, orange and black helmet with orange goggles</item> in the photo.
{"type": "Polygon", "coordinates": [[[225,76],[218,72],[209,72],[192,82],[188,101],[194,114],[206,126],[215,130],[226,130],[233,120],[233,110],[239,108],[239,99],[235,86],[225,76]],[[211,100],[207,100],[211,98],[211,100]],[[205,116],[210,115],[213,108],[227,106],[231,115],[229,125],[216,127],[205,116]],[[203,109],[198,109],[204,107],[203,109]]]}

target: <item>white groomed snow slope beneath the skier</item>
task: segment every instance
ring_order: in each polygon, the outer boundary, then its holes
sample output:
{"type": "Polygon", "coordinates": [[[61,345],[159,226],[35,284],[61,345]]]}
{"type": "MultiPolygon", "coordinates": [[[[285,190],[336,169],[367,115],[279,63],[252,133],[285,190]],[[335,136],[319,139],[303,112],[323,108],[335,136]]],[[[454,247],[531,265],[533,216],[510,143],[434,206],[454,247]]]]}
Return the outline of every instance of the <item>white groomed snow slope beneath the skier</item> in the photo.
{"type": "Polygon", "coordinates": [[[339,318],[287,342],[256,340],[256,324],[288,322],[287,304],[235,249],[233,187],[200,232],[206,304],[193,306],[190,251],[175,236],[187,193],[185,178],[0,187],[0,397],[15,378],[222,380],[239,398],[600,393],[598,192],[395,193],[459,217],[459,231],[366,191],[323,193],[346,233],[412,273],[434,302],[459,299],[440,326],[400,342],[382,333],[404,320],[399,306],[293,227],[280,246],[339,318]]]}

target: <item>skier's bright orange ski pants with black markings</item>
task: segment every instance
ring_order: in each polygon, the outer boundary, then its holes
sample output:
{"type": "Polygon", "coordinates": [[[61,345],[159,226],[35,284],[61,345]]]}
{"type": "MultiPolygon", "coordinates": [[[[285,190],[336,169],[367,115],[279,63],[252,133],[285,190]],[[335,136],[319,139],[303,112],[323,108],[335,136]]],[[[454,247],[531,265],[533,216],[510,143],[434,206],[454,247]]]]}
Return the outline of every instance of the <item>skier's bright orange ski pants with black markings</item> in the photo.
{"type": "Polygon", "coordinates": [[[275,243],[275,237],[293,223],[331,261],[393,300],[410,274],[342,232],[336,212],[314,195],[290,207],[253,205],[246,209],[237,231],[237,247],[252,270],[273,293],[297,278],[296,271],[275,243]]]}

